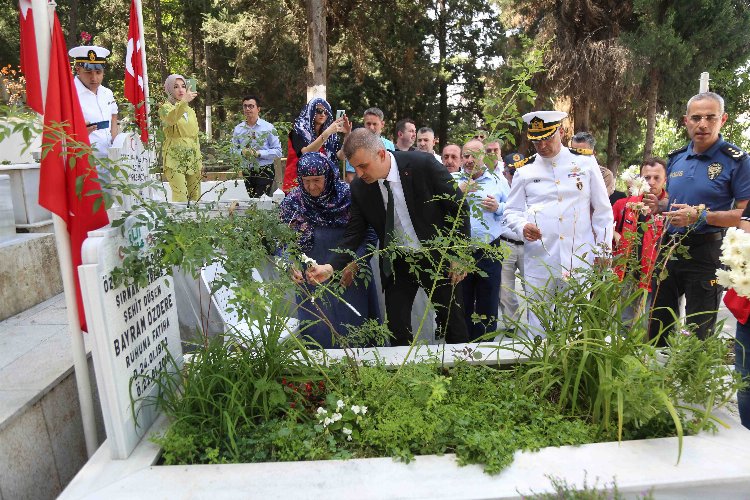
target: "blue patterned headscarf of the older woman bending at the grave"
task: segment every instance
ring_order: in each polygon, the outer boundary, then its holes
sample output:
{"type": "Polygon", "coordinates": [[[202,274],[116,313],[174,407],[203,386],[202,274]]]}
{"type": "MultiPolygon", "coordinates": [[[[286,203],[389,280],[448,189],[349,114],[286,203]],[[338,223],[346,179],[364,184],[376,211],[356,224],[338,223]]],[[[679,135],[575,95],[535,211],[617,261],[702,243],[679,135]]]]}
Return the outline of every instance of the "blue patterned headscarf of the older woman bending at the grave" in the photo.
{"type": "Polygon", "coordinates": [[[297,182],[281,202],[281,220],[300,233],[299,244],[307,252],[313,246],[315,227],[344,227],[349,222],[349,185],[339,179],[334,163],[317,152],[305,153],[297,163],[297,182]],[[305,191],[302,179],[325,176],[320,196],[305,191]]]}

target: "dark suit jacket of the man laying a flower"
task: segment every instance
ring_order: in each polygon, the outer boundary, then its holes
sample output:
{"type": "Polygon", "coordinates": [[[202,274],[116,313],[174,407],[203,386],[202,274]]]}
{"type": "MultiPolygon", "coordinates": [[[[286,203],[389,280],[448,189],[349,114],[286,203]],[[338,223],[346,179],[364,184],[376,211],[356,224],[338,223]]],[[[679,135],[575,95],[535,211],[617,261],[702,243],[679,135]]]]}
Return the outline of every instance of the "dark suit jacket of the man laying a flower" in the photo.
{"type": "MultiPolygon", "coordinates": [[[[463,195],[451,174],[433,155],[421,151],[396,151],[392,154],[398,164],[414,231],[420,241],[434,238],[437,236],[436,227],[447,227],[449,224],[446,217],[455,219],[458,216],[463,195]]],[[[351,183],[351,192],[351,220],[339,242],[339,248],[354,251],[364,241],[369,226],[375,230],[378,239],[383,241],[385,204],[378,182],[367,184],[357,177],[351,183]]],[[[460,233],[469,239],[471,226],[467,205],[464,204],[460,214],[460,233]]],[[[340,270],[351,260],[350,255],[340,253],[332,259],[331,265],[340,270]]]]}

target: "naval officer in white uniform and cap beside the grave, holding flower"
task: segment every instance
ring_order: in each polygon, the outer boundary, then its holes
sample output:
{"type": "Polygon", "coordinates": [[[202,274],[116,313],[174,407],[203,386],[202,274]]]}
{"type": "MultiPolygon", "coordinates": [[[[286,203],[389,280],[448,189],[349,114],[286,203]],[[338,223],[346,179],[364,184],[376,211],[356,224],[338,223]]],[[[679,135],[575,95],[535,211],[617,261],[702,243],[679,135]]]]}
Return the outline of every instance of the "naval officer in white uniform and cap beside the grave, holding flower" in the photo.
{"type": "MultiPolygon", "coordinates": [[[[526,242],[524,278],[530,299],[561,289],[575,279],[575,269],[606,257],[614,220],[607,188],[593,156],[562,145],[561,111],[523,115],[527,136],[537,153],[523,162],[513,177],[505,205],[505,220],[526,242]]],[[[518,166],[518,165],[517,165],[518,166]]],[[[529,336],[544,336],[529,308],[529,336]]]]}

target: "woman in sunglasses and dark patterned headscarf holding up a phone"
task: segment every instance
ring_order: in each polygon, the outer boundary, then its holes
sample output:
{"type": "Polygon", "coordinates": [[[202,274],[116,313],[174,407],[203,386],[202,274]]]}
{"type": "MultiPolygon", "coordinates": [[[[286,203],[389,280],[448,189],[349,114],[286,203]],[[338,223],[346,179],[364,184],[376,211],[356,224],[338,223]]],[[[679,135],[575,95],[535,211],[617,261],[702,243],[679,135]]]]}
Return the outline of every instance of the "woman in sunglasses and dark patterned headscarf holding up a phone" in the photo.
{"type": "Polygon", "coordinates": [[[344,135],[352,130],[352,123],[344,115],[333,119],[333,111],[328,101],[316,97],[300,111],[289,131],[286,169],[282,189],[285,193],[297,185],[297,160],[305,153],[317,151],[332,162],[343,160],[338,133],[344,135]]]}

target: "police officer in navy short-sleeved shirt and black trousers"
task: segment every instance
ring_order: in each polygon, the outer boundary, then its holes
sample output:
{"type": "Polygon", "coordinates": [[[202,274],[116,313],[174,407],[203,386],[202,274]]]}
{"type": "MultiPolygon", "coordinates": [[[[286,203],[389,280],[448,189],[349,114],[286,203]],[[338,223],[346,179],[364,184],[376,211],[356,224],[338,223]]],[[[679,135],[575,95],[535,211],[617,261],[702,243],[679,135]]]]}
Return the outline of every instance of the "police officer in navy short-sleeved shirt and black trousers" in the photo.
{"type": "Polygon", "coordinates": [[[750,157],[719,134],[727,121],[724,99],[713,92],[693,96],[684,121],[691,141],[669,154],[669,207],[644,195],[652,211],[667,218],[667,244],[680,242],[689,254],[672,254],[668,276],[654,286],[649,335],[660,335],[659,345],[666,345],[683,294],[686,322],[697,326],[700,338],[713,332],[723,292],[716,270],[724,228],[736,224],[750,199],[750,157]]]}

